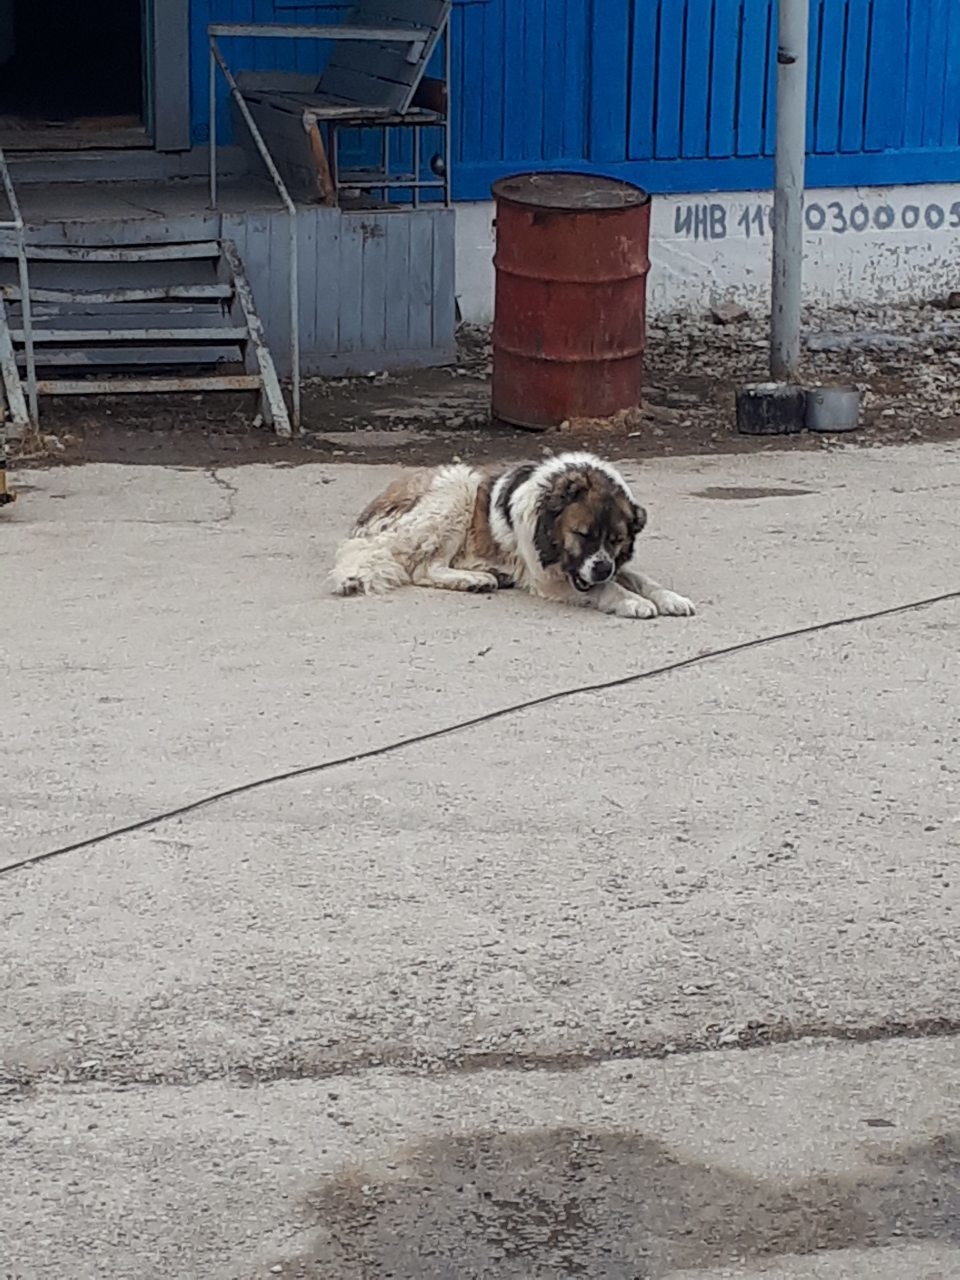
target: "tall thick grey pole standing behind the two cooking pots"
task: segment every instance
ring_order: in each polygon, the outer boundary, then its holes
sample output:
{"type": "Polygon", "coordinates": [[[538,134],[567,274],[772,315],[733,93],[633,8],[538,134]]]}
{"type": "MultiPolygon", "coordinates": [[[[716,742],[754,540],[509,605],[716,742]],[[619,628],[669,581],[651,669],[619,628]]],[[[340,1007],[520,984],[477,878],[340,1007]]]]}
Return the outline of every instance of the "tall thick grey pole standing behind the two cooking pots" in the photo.
{"type": "Polygon", "coordinates": [[[771,374],[778,381],[795,381],[800,372],[809,18],[809,0],[780,0],[771,307],[771,374]]]}

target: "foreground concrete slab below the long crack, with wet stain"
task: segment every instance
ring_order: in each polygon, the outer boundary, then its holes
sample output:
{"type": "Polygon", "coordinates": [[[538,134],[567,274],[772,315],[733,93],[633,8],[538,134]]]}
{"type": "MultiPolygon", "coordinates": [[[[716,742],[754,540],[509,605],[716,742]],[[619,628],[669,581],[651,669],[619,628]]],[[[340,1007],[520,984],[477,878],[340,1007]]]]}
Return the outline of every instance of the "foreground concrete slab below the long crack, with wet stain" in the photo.
{"type": "Polygon", "coordinates": [[[8,1271],[954,1280],[956,1043],[6,1107],[8,1271]]]}

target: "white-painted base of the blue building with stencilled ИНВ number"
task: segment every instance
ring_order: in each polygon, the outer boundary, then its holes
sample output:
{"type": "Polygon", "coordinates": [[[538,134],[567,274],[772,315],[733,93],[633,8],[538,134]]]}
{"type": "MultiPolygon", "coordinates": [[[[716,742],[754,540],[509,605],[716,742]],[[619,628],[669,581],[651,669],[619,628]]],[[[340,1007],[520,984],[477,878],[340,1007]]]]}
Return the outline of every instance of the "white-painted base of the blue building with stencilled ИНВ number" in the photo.
{"type": "MultiPolygon", "coordinates": [[[[769,303],[769,192],[658,196],[650,236],[650,315],[736,300],[769,303]]],[[[492,202],[457,206],[462,319],[493,319],[492,202]]],[[[806,193],[805,293],[812,303],[919,302],[960,289],[960,186],[806,193]]]]}

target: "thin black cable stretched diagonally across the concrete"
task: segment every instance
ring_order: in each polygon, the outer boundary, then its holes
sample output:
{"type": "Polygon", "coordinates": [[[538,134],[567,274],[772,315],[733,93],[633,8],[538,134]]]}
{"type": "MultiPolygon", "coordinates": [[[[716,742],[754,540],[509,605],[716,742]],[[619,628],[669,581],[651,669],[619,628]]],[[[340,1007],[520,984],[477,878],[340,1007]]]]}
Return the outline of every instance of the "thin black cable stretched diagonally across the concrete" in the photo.
{"type": "Polygon", "coordinates": [[[35,863],[45,863],[51,858],[61,858],[65,854],[77,854],[83,849],[93,849],[96,845],[102,845],[118,836],[129,836],[136,831],[146,831],[161,822],[172,822],[174,818],[183,818],[188,813],[196,813],[197,809],[204,809],[209,804],[218,804],[220,800],[230,800],[233,796],[259,791],[261,787],[269,787],[276,782],[289,782],[292,778],[303,778],[311,773],[326,773],[328,769],[337,769],[344,764],[360,764],[364,760],[375,760],[381,755],[393,755],[394,751],[401,751],[407,746],[433,742],[438,737],[447,737],[448,733],[460,733],[463,730],[476,728],[479,724],[490,724],[493,721],[503,719],[507,716],[516,716],[535,707],[547,707],[548,703],[557,703],[564,698],[575,698],[577,694],[602,694],[611,689],[622,689],[625,685],[639,684],[641,680],[653,680],[655,676],[667,676],[675,671],[685,671],[687,667],[698,667],[700,663],[712,662],[717,658],[730,658],[736,653],[746,653],[748,649],[760,649],[764,645],[777,644],[781,640],[795,640],[797,636],[835,631],[837,627],[850,627],[858,622],[892,618],[897,613],[911,613],[915,609],[929,608],[932,604],[945,604],[947,600],[960,600],[960,591],[945,591],[942,595],[931,595],[923,600],[909,600],[906,604],[893,604],[886,609],[873,609],[870,613],[854,613],[842,618],[832,618],[828,622],[813,622],[810,626],[794,627],[791,631],[774,631],[772,635],[756,636],[753,640],[741,640],[739,644],[726,645],[722,649],[707,649],[703,653],[694,654],[691,658],[668,662],[662,667],[636,671],[630,676],[616,676],[613,680],[602,680],[595,685],[575,685],[572,689],[558,689],[553,694],[541,694],[539,698],[529,698],[522,703],[512,703],[509,707],[484,712],[481,716],[474,716],[470,719],[456,721],[453,724],[444,724],[442,728],[431,728],[425,733],[415,733],[412,737],[384,742],[383,746],[371,746],[366,751],[340,755],[334,760],[321,760],[319,764],[302,764],[296,769],[285,769],[283,773],[271,773],[262,778],[253,778],[252,782],[241,782],[236,787],[227,787],[225,791],[215,791],[211,795],[201,796],[200,800],[191,800],[189,804],[180,805],[177,809],[168,809],[165,813],[157,813],[150,818],[131,822],[125,827],[115,827],[113,831],[104,831],[99,836],[77,840],[72,845],[60,845],[59,849],[47,849],[42,854],[33,854],[29,858],[5,863],[0,867],[0,876],[18,870],[22,867],[32,867],[35,863]]]}

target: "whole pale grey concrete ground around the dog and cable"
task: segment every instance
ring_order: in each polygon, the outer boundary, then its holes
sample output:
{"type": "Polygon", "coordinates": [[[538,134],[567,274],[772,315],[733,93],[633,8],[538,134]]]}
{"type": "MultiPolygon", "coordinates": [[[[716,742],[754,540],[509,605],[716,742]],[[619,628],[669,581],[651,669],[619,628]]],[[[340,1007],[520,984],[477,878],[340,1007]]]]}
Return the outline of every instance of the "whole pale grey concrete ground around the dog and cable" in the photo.
{"type": "MultiPolygon", "coordinates": [[[[960,447],[625,465],[694,620],[334,600],[388,467],[18,472],[0,864],[960,589],[960,447]]],[[[0,1275],[960,1276],[960,603],[0,879],[0,1275]]]]}

